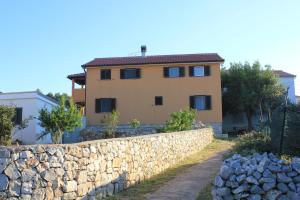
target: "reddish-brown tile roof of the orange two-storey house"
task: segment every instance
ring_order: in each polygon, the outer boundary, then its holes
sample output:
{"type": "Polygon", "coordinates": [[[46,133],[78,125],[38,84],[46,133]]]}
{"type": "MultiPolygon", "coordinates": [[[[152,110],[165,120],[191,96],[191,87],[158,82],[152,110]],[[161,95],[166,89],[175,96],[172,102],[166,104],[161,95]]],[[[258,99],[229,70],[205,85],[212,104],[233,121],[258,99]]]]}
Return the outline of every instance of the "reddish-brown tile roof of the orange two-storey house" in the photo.
{"type": "Polygon", "coordinates": [[[224,59],[216,53],[95,58],[82,67],[193,62],[224,62],[224,59]]]}

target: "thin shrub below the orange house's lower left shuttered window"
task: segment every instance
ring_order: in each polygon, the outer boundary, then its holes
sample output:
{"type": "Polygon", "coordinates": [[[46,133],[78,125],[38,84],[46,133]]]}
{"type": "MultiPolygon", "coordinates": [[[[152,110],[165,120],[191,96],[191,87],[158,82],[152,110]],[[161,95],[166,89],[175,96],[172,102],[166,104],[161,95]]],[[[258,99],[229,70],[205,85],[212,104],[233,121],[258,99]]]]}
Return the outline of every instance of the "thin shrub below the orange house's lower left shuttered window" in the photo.
{"type": "Polygon", "coordinates": [[[110,114],[104,115],[101,120],[101,124],[104,128],[104,136],[105,138],[114,138],[116,137],[116,130],[119,123],[120,113],[117,111],[113,111],[110,114]]]}

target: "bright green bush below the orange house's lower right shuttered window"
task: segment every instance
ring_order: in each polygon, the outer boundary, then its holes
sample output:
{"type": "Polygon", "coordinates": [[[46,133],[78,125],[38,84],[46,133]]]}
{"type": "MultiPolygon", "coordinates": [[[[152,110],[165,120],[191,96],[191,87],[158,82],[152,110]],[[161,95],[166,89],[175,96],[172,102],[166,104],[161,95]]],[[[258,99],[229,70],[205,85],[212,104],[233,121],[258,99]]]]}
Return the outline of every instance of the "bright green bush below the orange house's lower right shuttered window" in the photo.
{"type": "Polygon", "coordinates": [[[165,132],[185,131],[193,128],[196,119],[196,110],[184,109],[173,112],[164,127],[165,132]]]}

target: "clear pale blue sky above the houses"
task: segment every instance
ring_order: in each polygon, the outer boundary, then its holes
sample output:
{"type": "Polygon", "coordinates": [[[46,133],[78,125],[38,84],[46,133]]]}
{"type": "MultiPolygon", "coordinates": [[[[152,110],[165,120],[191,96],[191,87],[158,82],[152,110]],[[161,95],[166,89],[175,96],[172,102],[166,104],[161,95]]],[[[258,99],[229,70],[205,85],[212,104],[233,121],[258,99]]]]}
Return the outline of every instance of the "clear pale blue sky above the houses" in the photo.
{"type": "Polygon", "coordinates": [[[71,93],[95,57],[217,52],[296,74],[300,1],[0,1],[0,91],[71,93]],[[139,54],[137,54],[139,55],[139,54]]]}

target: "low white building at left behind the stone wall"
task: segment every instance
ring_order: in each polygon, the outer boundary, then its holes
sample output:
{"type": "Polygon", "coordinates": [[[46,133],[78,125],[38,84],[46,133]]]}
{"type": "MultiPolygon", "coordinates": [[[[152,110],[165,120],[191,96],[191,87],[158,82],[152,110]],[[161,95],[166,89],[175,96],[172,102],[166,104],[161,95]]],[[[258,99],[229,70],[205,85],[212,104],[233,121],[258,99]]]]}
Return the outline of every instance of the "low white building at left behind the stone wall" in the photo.
{"type": "Polygon", "coordinates": [[[33,92],[13,92],[0,93],[0,105],[13,106],[16,108],[16,124],[20,124],[25,119],[28,126],[22,130],[15,130],[13,140],[21,141],[23,144],[51,143],[50,135],[37,140],[37,137],[43,132],[37,119],[39,110],[47,108],[51,110],[58,106],[54,99],[41,94],[38,91],[33,92]]]}

